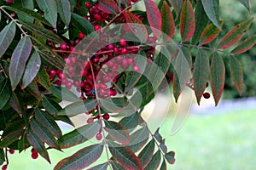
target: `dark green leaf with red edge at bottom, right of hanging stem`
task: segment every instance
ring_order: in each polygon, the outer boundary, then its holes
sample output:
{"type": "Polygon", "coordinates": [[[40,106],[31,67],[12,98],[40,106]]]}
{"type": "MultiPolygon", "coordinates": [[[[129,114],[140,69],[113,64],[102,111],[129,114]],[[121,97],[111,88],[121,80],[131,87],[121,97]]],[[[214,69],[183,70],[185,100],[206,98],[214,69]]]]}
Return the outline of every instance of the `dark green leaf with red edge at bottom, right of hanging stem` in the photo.
{"type": "Polygon", "coordinates": [[[115,161],[119,162],[125,169],[143,170],[139,158],[127,147],[108,147],[115,161]]]}

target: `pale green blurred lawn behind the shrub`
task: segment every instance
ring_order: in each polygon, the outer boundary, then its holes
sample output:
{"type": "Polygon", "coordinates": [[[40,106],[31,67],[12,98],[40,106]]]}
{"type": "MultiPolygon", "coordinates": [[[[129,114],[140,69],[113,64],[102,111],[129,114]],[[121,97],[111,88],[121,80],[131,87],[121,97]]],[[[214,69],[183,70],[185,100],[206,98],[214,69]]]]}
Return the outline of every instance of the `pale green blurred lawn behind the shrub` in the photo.
{"type": "MultiPolygon", "coordinates": [[[[250,170],[256,167],[256,110],[225,114],[189,116],[180,131],[169,135],[172,118],[161,128],[176,163],[168,170],[250,170]]],[[[32,160],[30,150],[9,156],[9,170],[50,170],[57,161],[79,150],[50,151],[52,165],[39,156],[32,160]]]]}

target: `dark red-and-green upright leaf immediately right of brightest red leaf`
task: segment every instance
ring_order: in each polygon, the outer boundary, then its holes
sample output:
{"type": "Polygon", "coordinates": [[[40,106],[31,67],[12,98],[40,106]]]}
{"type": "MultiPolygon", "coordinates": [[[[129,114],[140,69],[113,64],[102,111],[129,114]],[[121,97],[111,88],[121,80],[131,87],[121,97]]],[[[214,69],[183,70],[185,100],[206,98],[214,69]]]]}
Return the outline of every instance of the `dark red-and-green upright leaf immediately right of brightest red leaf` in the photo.
{"type": "Polygon", "coordinates": [[[175,23],[172,16],[171,8],[168,3],[164,1],[163,6],[161,8],[161,16],[162,16],[162,31],[166,33],[170,39],[172,39],[175,31],[175,23]]]}

